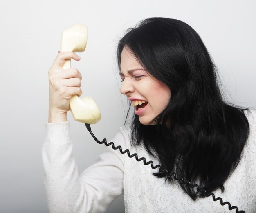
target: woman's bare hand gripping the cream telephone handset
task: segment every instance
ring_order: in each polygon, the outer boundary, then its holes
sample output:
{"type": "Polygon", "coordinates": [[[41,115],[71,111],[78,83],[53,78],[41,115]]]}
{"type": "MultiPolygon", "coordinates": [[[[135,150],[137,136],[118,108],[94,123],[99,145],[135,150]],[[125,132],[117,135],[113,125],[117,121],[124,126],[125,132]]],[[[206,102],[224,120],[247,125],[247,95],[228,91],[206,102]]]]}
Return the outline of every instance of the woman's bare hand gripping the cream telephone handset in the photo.
{"type": "Polygon", "coordinates": [[[73,52],[59,52],[49,69],[49,123],[67,121],[70,98],[82,94],[81,73],[76,68],[62,68],[69,59],[79,61],[80,57],[73,52]]]}

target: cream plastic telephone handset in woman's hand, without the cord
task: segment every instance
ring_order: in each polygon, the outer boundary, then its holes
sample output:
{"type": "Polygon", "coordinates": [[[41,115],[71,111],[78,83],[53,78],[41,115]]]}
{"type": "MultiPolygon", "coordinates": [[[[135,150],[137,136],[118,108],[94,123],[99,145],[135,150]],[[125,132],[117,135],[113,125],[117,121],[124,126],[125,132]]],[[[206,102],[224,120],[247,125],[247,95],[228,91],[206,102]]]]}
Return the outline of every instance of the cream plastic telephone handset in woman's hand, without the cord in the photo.
{"type": "MultiPolygon", "coordinates": [[[[83,52],[87,43],[87,26],[76,24],[61,35],[61,52],[83,52]]],[[[63,64],[63,69],[71,67],[71,61],[63,64]]],[[[74,95],[70,99],[70,111],[76,121],[88,124],[97,123],[101,119],[101,113],[91,97],[79,98],[74,95]]]]}

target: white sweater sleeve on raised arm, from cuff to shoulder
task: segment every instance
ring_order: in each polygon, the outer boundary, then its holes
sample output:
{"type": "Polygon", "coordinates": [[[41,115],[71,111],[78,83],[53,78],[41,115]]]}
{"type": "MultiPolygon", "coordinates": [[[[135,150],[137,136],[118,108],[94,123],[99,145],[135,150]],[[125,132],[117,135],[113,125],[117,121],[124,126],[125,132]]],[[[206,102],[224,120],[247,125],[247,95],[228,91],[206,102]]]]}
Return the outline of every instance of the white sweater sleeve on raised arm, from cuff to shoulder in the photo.
{"type": "MultiPolygon", "coordinates": [[[[112,141],[122,145],[124,136],[118,133],[112,141]]],[[[104,212],[123,193],[124,158],[111,147],[79,177],[68,121],[46,123],[42,158],[50,213],[104,212]]]]}

